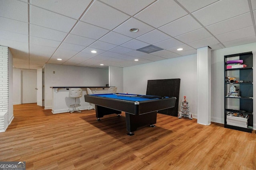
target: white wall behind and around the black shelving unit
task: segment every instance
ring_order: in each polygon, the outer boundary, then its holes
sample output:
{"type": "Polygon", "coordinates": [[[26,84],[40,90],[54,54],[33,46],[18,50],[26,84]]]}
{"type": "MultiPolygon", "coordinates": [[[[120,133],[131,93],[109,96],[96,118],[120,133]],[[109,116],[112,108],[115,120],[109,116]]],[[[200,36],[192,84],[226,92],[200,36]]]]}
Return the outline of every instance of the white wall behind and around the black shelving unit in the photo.
{"type": "MultiPolygon", "coordinates": [[[[211,117],[212,121],[224,124],[224,55],[231,55],[237,53],[244,53],[252,51],[253,64],[256,66],[256,43],[250,43],[246,45],[239,45],[236,47],[230,47],[220,50],[212,51],[211,54],[211,78],[212,78],[212,109],[211,117]]],[[[253,70],[253,80],[256,80],[256,71],[253,70]]],[[[256,97],[256,85],[253,84],[253,96],[256,97]]],[[[253,101],[253,109],[256,110],[255,103],[253,101]]],[[[256,116],[254,115],[254,129],[256,128],[256,116]]]]}

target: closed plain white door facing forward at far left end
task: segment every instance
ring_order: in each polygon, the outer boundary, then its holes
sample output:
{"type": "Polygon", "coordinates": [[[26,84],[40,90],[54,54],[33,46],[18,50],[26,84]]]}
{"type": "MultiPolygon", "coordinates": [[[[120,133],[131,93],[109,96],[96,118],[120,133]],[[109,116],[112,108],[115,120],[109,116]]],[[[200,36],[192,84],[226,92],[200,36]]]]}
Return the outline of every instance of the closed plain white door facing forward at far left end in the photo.
{"type": "Polygon", "coordinates": [[[21,86],[22,86],[22,104],[36,103],[37,83],[36,71],[22,70],[21,72],[21,86]]]}

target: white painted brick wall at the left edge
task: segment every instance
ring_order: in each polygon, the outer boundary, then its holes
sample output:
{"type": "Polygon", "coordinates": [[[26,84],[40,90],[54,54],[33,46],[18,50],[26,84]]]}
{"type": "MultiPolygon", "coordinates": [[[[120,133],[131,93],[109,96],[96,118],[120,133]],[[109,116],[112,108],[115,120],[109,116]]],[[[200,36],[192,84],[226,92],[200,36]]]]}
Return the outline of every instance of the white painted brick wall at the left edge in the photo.
{"type": "Polygon", "coordinates": [[[8,127],[8,47],[0,46],[0,132],[8,127]]]}

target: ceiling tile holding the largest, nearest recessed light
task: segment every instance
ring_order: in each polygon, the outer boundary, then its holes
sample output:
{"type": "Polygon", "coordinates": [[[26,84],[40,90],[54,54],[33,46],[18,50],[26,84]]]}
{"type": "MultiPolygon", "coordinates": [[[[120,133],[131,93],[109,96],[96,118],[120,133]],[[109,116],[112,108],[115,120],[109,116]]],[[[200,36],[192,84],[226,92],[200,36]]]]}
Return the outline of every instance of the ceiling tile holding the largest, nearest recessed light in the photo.
{"type": "Polygon", "coordinates": [[[120,26],[116,27],[113,31],[126,35],[128,37],[136,38],[140,35],[143,35],[144,33],[147,33],[149,31],[152,31],[154,27],[151,27],[139,20],[136,20],[135,18],[130,18],[129,20],[122,23],[120,26]],[[139,31],[136,33],[130,32],[130,29],[132,28],[138,28],[139,31]]]}

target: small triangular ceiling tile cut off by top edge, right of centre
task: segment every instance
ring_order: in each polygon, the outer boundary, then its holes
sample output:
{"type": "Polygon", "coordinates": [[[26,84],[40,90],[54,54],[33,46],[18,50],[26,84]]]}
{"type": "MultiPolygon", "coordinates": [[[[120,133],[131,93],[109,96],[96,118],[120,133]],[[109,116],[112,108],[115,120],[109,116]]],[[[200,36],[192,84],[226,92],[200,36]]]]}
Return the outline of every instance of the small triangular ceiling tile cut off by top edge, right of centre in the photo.
{"type": "Polygon", "coordinates": [[[177,0],[189,12],[194,12],[218,0],[177,0]]]}

